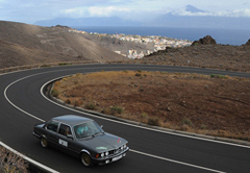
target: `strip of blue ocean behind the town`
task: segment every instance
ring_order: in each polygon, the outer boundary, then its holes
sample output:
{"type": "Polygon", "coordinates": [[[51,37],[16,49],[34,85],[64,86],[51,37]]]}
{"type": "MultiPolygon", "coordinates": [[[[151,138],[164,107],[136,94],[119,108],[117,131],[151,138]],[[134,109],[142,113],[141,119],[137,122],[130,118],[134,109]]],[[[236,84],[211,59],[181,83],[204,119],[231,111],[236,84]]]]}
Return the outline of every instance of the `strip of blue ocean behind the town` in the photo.
{"type": "Polygon", "coordinates": [[[183,40],[199,40],[206,35],[212,36],[218,44],[242,45],[250,39],[250,29],[218,28],[174,28],[174,27],[135,27],[135,26],[82,26],[74,27],[86,32],[127,35],[158,35],[183,40]]]}

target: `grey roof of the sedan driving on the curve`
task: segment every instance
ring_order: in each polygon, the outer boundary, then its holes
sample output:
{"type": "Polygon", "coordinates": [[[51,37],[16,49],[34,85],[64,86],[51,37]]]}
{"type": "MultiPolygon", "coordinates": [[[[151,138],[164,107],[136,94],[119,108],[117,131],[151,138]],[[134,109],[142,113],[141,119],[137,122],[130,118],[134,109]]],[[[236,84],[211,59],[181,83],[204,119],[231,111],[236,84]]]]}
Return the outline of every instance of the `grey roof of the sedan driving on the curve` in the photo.
{"type": "Polygon", "coordinates": [[[59,122],[62,122],[71,126],[85,123],[88,121],[93,121],[92,119],[77,116],[77,115],[63,115],[63,116],[54,117],[52,118],[52,120],[59,121],[59,122]]]}

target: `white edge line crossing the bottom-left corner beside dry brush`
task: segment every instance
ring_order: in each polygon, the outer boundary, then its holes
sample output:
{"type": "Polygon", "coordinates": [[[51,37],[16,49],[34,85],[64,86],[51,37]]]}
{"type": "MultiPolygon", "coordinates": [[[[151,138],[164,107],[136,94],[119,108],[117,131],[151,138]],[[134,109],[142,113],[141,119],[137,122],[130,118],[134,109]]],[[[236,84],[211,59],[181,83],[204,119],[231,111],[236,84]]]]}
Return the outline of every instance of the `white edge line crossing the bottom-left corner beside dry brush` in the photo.
{"type": "Polygon", "coordinates": [[[58,171],[51,169],[21,153],[19,153],[18,151],[14,150],[13,148],[9,147],[8,145],[4,144],[3,142],[0,141],[0,145],[3,146],[4,148],[6,148],[7,150],[11,151],[12,153],[18,155],[19,157],[22,157],[24,160],[28,161],[29,163],[32,163],[33,165],[37,165],[38,167],[42,168],[43,170],[49,171],[49,172],[53,172],[53,173],[59,173],[58,171]]]}

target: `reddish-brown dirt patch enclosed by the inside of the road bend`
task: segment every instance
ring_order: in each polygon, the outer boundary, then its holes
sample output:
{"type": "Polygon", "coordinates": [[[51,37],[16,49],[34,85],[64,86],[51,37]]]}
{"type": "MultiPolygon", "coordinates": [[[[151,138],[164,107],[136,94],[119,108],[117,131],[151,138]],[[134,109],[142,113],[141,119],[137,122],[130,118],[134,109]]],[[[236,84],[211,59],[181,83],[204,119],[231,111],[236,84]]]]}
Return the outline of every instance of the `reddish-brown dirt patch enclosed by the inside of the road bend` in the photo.
{"type": "Polygon", "coordinates": [[[124,71],[76,74],[56,82],[53,93],[125,119],[249,140],[249,86],[249,79],[228,76],[124,71]]]}

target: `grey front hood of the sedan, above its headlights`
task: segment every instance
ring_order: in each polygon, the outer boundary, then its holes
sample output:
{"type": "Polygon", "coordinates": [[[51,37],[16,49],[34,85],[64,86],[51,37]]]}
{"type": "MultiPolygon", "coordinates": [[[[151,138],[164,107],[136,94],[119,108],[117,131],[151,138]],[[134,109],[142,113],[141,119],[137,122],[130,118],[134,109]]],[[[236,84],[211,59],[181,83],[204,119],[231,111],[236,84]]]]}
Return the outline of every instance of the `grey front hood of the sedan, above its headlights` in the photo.
{"type": "Polygon", "coordinates": [[[79,142],[97,152],[117,149],[118,147],[127,143],[125,139],[109,133],[97,135],[89,139],[79,140],[79,142]]]}

